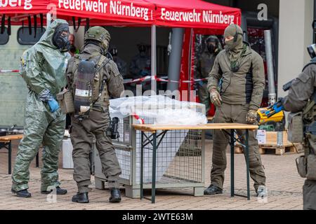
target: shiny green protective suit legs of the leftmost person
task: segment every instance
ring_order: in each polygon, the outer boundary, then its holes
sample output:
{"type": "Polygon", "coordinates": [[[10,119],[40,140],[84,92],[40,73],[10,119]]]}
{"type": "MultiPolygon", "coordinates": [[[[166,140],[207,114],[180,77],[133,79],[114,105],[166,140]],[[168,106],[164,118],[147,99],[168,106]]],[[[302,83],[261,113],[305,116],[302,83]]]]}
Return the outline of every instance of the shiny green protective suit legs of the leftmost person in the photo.
{"type": "MultiPolygon", "coordinates": [[[[41,102],[39,102],[42,104],[41,102]]],[[[26,107],[24,137],[18,147],[18,155],[12,174],[12,189],[29,188],[29,165],[43,146],[41,190],[60,186],[58,181],[58,155],[65,132],[66,116],[59,109],[55,113],[26,107]]]]}

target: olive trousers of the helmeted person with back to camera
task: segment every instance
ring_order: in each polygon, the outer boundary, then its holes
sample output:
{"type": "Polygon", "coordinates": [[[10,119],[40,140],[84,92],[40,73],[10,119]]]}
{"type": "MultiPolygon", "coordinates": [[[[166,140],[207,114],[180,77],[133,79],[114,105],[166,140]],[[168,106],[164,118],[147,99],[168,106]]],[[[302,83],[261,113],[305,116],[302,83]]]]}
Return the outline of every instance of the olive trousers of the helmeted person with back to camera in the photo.
{"type": "Polygon", "coordinates": [[[110,124],[110,115],[107,112],[91,111],[89,118],[79,121],[72,116],[71,140],[72,160],[74,161],[74,181],[80,193],[87,192],[91,185],[91,171],[89,155],[93,144],[93,135],[96,137],[96,148],[100,156],[103,174],[110,188],[119,188],[121,168],[117,160],[112,140],[107,137],[106,130],[110,124]]]}

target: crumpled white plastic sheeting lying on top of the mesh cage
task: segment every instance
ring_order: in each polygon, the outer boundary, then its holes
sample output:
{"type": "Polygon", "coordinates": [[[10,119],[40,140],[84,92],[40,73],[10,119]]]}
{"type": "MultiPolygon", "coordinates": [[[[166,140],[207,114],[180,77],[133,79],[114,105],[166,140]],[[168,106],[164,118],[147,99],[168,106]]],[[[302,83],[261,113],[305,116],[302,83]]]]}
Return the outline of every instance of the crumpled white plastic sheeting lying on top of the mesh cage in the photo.
{"type": "Polygon", "coordinates": [[[154,118],[155,124],[201,125],[207,123],[204,104],[181,102],[162,95],[110,100],[110,116],[138,115],[154,118]]]}

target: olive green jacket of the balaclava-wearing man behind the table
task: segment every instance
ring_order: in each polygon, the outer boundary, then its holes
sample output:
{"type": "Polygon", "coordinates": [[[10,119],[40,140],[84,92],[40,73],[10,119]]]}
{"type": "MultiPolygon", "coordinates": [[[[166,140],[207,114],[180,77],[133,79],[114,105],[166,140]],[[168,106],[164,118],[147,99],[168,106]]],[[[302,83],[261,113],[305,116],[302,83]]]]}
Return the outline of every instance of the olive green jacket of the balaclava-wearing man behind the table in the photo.
{"type": "Polygon", "coordinates": [[[230,70],[228,52],[218,53],[213,69],[209,73],[208,90],[220,85],[220,96],[226,104],[249,104],[249,109],[257,110],[261,106],[265,89],[265,71],[263,59],[252,50],[248,43],[239,58],[239,70],[230,70]]]}

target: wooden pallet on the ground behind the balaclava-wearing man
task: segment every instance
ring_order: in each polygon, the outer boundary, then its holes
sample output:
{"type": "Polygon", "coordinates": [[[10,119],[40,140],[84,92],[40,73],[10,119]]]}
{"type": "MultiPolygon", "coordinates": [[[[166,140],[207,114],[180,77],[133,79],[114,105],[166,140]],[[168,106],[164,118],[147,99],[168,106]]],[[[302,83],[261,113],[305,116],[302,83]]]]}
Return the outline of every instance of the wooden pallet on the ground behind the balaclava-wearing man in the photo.
{"type": "MultiPolygon", "coordinates": [[[[240,145],[235,145],[235,153],[243,153],[244,149],[240,145]]],[[[284,155],[284,154],[293,154],[293,153],[302,153],[303,146],[301,144],[287,144],[284,146],[277,145],[259,145],[260,154],[275,154],[275,155],[284,155]]]]}

